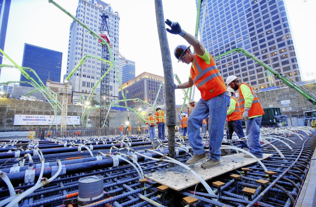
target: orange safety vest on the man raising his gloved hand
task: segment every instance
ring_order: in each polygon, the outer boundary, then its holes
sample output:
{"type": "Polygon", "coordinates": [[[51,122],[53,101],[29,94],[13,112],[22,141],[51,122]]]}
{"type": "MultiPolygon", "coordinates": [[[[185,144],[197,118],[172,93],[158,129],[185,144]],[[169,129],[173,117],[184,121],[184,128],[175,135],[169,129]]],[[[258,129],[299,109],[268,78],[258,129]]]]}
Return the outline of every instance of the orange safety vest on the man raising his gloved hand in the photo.
{"type": "Polygon", "coordinates": [[[192,81],[201,92],[203,100],[209,100],[227,91],[224,80],[211,54],[210,58],[210,64],[207,64],[202,58],[195,54],[192,63],[194,69],[191,66],[192,81]]]}

